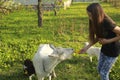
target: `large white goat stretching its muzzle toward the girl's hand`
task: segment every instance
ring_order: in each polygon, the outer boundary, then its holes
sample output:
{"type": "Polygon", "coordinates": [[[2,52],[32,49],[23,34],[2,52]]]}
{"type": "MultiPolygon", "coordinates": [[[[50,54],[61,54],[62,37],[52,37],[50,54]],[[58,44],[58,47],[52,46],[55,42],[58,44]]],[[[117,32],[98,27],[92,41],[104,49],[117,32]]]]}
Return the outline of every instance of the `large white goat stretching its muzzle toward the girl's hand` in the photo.
{"type": "Polygon", "coordinates": [[[54,68],[61,61],[68,59],[72,53],[72,48],[59,49],[50,44],[41,44],[37,53],[33,57],[33,65],[35,67],[38,80],[44,80],[44,77],[46,76],[51,80],[51,73],[56,77],[54,68]]]}

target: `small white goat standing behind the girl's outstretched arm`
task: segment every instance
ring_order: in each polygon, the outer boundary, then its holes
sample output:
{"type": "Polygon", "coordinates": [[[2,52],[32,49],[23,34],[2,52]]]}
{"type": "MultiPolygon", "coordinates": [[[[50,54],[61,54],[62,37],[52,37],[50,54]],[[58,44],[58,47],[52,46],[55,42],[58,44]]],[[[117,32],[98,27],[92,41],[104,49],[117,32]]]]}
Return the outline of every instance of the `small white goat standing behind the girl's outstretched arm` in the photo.
{"type": "MultiPolygon", "coordinates": [[[[89,45],[88,42],[85,42],[85,46],[89,45]]],[[[91,46],[87,51],[86,53],[89,55],[90,57],[90,61],[92,62],[92,57],[93,56],[96,56],[97,59],[99,60],[99,55],[100,55],[100,50],[101,48],[100,47],[95,47],[95,46],[91,46]]]]}

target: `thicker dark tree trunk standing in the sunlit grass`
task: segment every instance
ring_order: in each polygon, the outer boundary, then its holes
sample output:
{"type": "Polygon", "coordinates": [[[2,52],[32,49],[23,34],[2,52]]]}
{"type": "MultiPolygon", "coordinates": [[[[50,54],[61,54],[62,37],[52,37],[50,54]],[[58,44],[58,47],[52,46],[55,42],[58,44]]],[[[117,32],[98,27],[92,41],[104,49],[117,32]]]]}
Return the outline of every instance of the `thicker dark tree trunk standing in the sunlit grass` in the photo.
{"type": "Polygon", "coordinates": [[[43,19],[42,19],[42,5],[41,5],[42,0],[38,0],[38,27],[42,26],[43,19]]]}

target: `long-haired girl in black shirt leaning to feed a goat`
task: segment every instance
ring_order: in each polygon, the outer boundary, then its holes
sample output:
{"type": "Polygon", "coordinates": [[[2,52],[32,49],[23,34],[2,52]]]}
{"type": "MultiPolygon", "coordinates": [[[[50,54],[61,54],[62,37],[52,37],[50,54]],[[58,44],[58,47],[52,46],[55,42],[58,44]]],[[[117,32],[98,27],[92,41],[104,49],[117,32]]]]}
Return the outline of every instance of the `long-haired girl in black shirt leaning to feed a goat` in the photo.
{"type": "Polygon", "coordinates": [[[103,11],[99,3],[87,7],[89,16],[89,45],[80,50],[84,53],[95,43],[102,45],[98,62],[98,72],[101,80],[109,80],[109,70],[119,55],[120,28],[103,11]]]}

